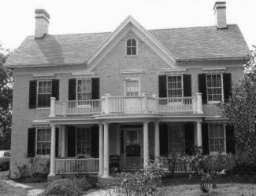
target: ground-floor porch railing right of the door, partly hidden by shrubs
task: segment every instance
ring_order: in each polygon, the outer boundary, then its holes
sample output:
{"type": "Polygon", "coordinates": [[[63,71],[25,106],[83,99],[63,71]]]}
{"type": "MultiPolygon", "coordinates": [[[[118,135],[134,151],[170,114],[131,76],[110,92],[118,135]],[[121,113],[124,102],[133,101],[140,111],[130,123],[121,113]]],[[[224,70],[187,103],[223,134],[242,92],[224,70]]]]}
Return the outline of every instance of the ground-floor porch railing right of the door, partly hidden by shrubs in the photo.
{"type": "Polygon", "coordinates": [[[181,158],[159,158],[163,164],[164,169],[168,172],[195,172],[195,165],[193,163],[184,162],[181,158]]]}

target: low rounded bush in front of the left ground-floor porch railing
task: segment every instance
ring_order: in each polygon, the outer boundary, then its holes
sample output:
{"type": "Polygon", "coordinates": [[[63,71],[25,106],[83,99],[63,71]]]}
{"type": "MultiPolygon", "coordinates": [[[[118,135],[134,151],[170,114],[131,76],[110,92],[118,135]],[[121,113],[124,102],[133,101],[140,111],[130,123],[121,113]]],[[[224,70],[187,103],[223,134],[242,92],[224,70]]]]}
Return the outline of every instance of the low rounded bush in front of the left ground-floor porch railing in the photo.
{"type": "Polygon", "coordinates": [[[85,178],[60,179],[48,183],[43,195],[80,196],[90,189],[91,184],[85,178]]]}

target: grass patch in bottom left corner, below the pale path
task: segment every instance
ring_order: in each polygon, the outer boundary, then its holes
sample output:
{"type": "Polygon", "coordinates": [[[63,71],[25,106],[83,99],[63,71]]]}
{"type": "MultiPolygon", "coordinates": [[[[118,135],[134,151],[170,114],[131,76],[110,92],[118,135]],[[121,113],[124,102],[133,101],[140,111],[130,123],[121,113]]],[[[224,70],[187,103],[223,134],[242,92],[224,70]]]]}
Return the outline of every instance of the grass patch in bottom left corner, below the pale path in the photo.
{"type": "Polygon", "coordinates": [[[25,196],[28,191],[21,187],[13,187],[0,180],[0,195],[1,196],[25,196]]]}

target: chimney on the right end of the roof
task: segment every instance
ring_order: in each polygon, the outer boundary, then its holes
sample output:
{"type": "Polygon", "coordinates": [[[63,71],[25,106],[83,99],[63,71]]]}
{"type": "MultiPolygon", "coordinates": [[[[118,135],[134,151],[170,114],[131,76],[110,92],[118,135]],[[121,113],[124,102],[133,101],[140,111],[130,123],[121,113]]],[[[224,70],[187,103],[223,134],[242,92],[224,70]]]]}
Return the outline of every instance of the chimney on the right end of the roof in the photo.
{"type": "Polygon", "coordinates": [[[216,27],[227,28],[226,2],[215,2],[213,10],[216,15],[216,27]]]}

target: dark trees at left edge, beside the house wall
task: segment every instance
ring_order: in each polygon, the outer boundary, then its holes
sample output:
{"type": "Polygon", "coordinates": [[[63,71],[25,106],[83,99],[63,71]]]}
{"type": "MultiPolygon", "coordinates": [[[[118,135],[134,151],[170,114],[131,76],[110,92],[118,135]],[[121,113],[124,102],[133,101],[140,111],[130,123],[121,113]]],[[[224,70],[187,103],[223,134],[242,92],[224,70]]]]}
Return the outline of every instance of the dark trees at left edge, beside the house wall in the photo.
{"type": "Polygon", "coordinates": [[[4,148],[9,148],[12,124],[13,72],[2,67],[9,53],[0,43],[0,142],[5,143],[4,148]]]}

